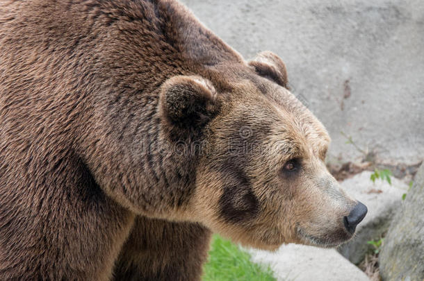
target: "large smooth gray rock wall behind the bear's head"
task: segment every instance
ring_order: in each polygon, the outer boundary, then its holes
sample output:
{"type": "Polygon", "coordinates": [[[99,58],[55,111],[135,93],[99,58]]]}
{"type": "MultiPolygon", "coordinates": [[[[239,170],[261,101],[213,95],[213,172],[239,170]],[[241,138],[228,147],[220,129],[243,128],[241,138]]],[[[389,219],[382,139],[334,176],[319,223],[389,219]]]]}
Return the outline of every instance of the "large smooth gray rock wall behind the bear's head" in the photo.
{"type": "Polygon", "coordinates": [[[424,1],[181,0],[245,56],[279,54],[295,95],[332,136],[330,161],[424,157],[424,1]],[[407,126],[405,126],[407,124],[407,126]]]}

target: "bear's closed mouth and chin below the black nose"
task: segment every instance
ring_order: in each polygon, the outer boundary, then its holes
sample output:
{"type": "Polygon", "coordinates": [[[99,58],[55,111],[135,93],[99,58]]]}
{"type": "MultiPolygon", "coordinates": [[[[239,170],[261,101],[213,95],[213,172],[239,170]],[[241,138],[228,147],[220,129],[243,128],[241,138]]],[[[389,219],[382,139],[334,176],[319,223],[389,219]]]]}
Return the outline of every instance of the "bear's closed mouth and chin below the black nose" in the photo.
{"type": "Polygon", "coordinates": [[[308,234],[303,228],[300,228],[299,226],[297,226],[296,232],[302,243],[311,246],[318,246],[321,248],[334,248],[340,246],[353,237],[353,235],[350,235],[343,230],[336,230],[323,237],[318,237],[308,234]]]}

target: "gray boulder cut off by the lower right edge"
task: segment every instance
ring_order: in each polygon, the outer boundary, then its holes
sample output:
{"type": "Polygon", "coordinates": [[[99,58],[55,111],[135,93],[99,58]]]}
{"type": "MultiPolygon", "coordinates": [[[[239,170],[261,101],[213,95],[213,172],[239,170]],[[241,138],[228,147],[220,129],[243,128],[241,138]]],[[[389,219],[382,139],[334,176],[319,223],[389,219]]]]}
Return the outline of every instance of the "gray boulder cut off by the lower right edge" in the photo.
{"type": "Polygon", "coordinates": [[[424,280],[424,164],[390,225],[379,260],[383,280],[424,280]]]}

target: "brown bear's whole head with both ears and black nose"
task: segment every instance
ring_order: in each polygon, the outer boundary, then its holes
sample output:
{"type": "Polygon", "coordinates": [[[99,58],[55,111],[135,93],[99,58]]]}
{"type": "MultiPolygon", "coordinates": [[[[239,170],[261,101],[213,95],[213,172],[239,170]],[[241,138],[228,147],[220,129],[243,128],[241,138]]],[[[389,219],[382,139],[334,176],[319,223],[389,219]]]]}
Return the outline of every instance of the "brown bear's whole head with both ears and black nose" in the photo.
{"type": "Polygon", "coordinates": [[[364,218],[366,207],[327,171],[327,130],[289,92],[286,67],[274,53],[260,53],[244,67],[174,76],[159,103],[162,133],[184,146],[180,153],[196,155],[189,220],[275,249],[337,246],[364,218]]]}

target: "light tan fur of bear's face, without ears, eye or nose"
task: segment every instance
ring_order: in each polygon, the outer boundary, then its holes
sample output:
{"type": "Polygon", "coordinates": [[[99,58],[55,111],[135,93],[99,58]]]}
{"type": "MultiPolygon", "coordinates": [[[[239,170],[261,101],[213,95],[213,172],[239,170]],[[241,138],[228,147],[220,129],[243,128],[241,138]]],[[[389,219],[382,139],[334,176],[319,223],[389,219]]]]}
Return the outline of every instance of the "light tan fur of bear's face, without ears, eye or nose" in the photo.
{"type": "Polygon", "coordinates": [[[211,124],[211,155],[204,157],[205,166],[197,175],[196,214],[212,230],[256,248],[273,249],[289,242],[336,246],[351,237],[343,216],[355,203],[323,162],[329,135],[288,90],[266,85],[266,94],[254,83],[236,87],[225,112],[211,124]],[[243,124],[241,129],[250,130],[254,138],[242,138],[243,151],[225,160],[231,142],[240,142],[236,124],[243,124]],[[282,167],[293,158],[302,161],[302,171],[293,178],[282,177],[282,167]],[[232,165],[245,173],[260,209],[238,223],[228,223],[217,210],[225,192],[222,187],[231,185],[227,179],[233,176],[232,165]]]}

